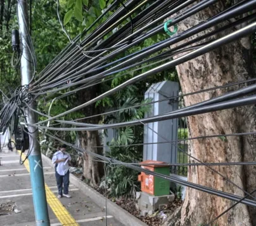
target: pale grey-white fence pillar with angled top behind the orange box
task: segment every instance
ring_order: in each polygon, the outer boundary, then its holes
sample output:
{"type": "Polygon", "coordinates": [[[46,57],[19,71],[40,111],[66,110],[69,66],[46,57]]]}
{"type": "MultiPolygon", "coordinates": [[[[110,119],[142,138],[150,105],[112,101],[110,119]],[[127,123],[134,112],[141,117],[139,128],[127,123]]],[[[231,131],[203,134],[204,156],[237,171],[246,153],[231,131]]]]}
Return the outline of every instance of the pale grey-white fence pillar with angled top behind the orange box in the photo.
{"type": "MultiPolygon", "coordinates": [[[[164,81],[153,84],[145,93],[145,99],[159,101],[179,94],[179,84],[177,82],[164,81]]],[[[178,100],[168,100],[151,104],[151,111],[145,117],[161,115],[178,109],[178,100]]],[[[151,129],[161,134],[165,138],[174,141],[178,140],[178,119],[165,120],[147,124],[151,129]]],[[[158,160],[166,163],[177,163],[177,148],[166,142],[161,136],[144,127],[143,160],[158,160]]],[[[177,144],[177,143],[176,143],[177,144]]]]}

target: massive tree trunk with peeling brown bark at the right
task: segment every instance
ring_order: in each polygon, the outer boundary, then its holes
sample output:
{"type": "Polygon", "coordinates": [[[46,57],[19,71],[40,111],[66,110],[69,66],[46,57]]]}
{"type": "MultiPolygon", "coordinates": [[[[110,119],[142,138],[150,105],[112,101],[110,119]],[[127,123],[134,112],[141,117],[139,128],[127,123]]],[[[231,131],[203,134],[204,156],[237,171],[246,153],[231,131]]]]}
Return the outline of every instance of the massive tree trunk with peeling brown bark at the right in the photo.
{"type": "MultiPolygon", "coordinates": [[[[179,23],[179,32],[187,30],[195,26],[198,21],[222,11],[226,1],[221,2],[223,4],[215,4],[210,9],[197,13],[183,23],[179,23]]],[[[221,36],[234,29],[222,33],[221,36]]],[[[177,67],[177,71],[183,93],[252,78],[255,75],[255,67],[252,61],[250,38],[243,38],[183,63],[177,67]]],[[[237,88],[238,86],[235,86],[229,89],[190,95],[185,98],[185,104],[190,106],[237,88]]],[[[190,135],[195,137],[255,131],[255,110],[255,106],[249,106],[188,117],[190,135]]],[[[227,140],[220,138],[194,140],[190,143],[189,154],[205,163],[246,162],[256,160],[255,148],[255,136],[231,136],[227,140]]],[[[193,159],[189,159],[189,162],[193,162],[193,159]]],[[[247,192],[256,188],[255,166],[215,166],[213,168],[247,192]]],[[[244,192],[205,166],[190,167],[188,169],[188,181],[244,196],[244,192]]],[[[234,201],[187,188],[183,206],[165,225],[197,226],[198,224],[205,224],[233,204],[234,201]]],[[[213,225],[256,225],[255,214],[255,209],[238,204],[213,225]]]]}

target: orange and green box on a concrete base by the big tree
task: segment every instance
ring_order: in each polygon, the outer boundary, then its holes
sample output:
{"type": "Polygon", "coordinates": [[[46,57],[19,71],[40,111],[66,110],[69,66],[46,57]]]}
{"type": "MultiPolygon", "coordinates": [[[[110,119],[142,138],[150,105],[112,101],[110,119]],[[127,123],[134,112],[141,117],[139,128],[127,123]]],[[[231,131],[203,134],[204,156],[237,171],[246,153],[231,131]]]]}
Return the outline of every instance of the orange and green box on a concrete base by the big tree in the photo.
{"type": "MultiPolygon", "coordinates": [[[[164,165],[164,162],[146,160],[141,162],[140,164],[141,168],[145,168],[147,170],[161,173],[164,175],[170,174],[170,168],[169,166],[164,165]]],[[[170,194],[170,182],[167,180],[164,180],[157,176],[146,174],[144,172],[141,172],[138,180],[141,182],[141,191],[144,191],[150,195],[164,196],[170,194]]]]}

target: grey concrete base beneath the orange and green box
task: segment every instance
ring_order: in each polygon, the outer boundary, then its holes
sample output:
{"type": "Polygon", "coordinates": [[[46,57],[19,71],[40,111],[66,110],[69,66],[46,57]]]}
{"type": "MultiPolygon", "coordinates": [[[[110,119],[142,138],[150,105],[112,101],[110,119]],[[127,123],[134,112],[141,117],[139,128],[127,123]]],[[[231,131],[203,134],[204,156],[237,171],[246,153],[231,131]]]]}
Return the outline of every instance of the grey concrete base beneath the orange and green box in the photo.
{"type": "Polygon", "coordinates": [[[152,215],[157,209],[162,210],[165,205],[173,201],[175,196],[173,194],[168,196],[151,196],[145,192],[137,192],[136,198],[138,201],[137,209],[139,209],[142,216],[152,215]]]}

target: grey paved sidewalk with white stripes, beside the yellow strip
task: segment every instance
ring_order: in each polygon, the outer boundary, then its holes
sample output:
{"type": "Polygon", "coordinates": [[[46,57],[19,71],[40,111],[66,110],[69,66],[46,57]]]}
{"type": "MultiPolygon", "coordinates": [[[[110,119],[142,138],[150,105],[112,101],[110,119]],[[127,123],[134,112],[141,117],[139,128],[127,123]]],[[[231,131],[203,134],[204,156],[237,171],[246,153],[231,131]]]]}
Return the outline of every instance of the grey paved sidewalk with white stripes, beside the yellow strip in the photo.
{"type": "MultiPolygon", "coordinates": [[[[24,165],[19,164],[20,156],[18,153],[5,153],[5,150],[3,150],[2,153],[0,153],[0,158],[0,225],[34,226],[35,215],[29,172],[24,165]]],[[[43,167],[45,183],[50,190],[47,192],[48,201],[50,200],[49,193],[54,193],[55,196],[57,196],[58,191],[53,168],[44,161],[43,167]]],[[[85,196],[74,184],[70,184],[69,189],[72,197],[59,199],[63,205],[61,208],[66,209],[78,225],[105,226],[106,209],[93,203],[90,197],[85,196]]],[[[52,197],[53,199],[51,200],[57,200],[55,196],[52,197]]],[[[51,207],[48,205],[51,226],[68,225],[60,223],[59,219],[61,216],[57,217],[56,210],[52,210],[51,207]]],[[[115,217],[107,215],[107,225],[122,226],[125,225],[125,223],[122,224],[118,222],[115,217]]]]}

